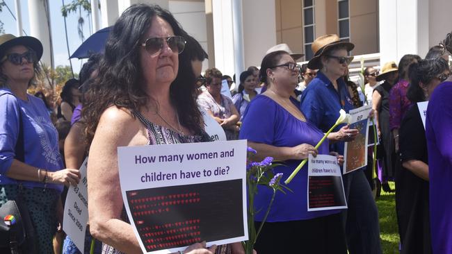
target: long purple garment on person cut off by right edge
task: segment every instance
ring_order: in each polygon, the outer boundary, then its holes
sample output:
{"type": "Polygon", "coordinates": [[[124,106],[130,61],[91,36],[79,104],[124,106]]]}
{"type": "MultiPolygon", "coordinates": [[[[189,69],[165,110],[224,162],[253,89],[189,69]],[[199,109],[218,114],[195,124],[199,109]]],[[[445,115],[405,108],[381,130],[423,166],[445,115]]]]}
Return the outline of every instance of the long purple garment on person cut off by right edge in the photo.
{"type": "Polygon", "coordinates": [[[432,94],[426,117],[433,253],[452,254],[452,82],[432,94]]]}

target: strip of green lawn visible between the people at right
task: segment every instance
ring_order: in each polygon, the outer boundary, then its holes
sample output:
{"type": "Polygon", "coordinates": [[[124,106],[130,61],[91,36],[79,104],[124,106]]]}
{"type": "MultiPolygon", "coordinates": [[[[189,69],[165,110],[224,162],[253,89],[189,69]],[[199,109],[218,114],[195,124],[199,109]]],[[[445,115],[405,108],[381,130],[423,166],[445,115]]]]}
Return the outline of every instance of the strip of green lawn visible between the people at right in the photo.
{"type": "MultiPolygon", "coordinates": [[[[394,183],[389,183],[394,189],[394,183]]],[[[396,196],[394,193],[381,192],[377,198],[378,214],[380,217],[380,237],[382,251],[384,254],[394,254],[398,252],[398,229],[396,216],[396,196]]]]}

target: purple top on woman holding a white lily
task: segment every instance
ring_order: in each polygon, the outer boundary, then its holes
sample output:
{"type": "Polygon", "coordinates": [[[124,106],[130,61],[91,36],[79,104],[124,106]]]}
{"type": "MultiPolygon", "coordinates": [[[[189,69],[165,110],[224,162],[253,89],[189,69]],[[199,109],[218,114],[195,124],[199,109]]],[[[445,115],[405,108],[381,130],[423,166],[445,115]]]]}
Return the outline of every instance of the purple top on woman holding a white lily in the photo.
{"type": "MultiPolygon", "coordinates": [[[[240,139],[272,146],[298,146],[312,144],[315,146],[323,137],[321,130],[314,124],[293,117],[288,111],[265,95],[258,95],[245,110],[245,117],[240,130],[240,139]]],[[[328,139],[318,148],[319,154],[328,154],[328,139]]],[[[287,160],[284,166],[275,167],[275,173],[284,173],[281,182],[286,180],[300,160],[287,160]]],[[[277,192],[275,201],[268,214],[267,221],[296,221],[312,219],[334,214],[340,210],[307,212],[307,164],[287,185],[293,192],[277,192]]],[[[259,186],[255,196],[255,208],[261,210],[256,214],[256,221],[262,221],[270,203],[273,190],[259,186]]]]}

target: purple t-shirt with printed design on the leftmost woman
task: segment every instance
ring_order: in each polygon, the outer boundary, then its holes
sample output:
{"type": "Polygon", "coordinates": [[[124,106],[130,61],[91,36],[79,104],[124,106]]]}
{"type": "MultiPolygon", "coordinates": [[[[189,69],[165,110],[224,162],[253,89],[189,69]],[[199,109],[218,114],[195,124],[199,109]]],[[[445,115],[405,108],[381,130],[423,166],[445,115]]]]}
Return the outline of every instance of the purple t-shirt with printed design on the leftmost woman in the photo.
{"type": "MultiPolygon", "coordinates": [[[[41,99],[28,95],[29,101],[15,97],[7,88],[0,88],[0,185],[17,181],[5,176],[15,157],[19,136],[19,114],[22,114],[24,130],[25,163],[48,171],[63,169],[58,149],[58,132],[51,123],[41,99]]],[[[38,178],[38,171],[36,178],[38,178]]],[[[21,181],[24,187],[44,187],[44,183],[21,181]]],[[[63,185],[47,187],[63,190],[63,185]]]]}

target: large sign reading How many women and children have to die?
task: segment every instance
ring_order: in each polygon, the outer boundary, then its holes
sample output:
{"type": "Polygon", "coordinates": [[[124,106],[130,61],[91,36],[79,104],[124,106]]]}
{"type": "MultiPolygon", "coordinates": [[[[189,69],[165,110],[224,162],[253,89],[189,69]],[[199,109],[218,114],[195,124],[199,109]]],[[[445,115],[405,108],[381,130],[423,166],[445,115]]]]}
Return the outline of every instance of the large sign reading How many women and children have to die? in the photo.
{"type": "Polygon", "coordinates": [[[143,253],[248,239],[246,140],[118,147],[118,164],[143,253]]]}

